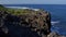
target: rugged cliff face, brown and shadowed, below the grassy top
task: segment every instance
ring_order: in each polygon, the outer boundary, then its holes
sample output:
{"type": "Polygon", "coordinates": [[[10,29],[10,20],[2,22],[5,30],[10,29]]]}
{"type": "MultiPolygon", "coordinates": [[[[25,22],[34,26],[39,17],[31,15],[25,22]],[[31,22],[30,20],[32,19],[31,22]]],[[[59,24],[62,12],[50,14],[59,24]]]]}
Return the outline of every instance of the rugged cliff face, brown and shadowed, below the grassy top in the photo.
{"type": "MultiPolygon", "coordinates": [[[[14,37],[25,37],[29,33],[30,35],[47,35],[51,33],[51,15],[46,12],[31,12],[25,15],[12,15],[6,11],[0,11],[0,29],[4,35],[14,37]],[[12,35],[13,34],[13,35],[12,35]],[[25,35],[25,36],[24,36],[25,35]]],[[[3,35],[2,34],[2,35],[3,35]]],[[[1,35],[1,34],[0,34],[1,35]]],[[[26,36],[28,37],[28,36],[26,36]]],[[[31,37],[31,36],[30,36],[31,37]]]]}

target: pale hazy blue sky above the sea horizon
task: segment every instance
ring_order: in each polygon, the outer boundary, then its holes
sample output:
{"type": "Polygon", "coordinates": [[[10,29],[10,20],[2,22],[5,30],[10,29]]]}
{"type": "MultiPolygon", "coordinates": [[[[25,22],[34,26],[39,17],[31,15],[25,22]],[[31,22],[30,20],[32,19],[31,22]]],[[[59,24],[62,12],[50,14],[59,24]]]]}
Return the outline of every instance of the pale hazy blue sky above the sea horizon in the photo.
{"type": "Polygon", "coordinates": [[[0,4],[66,4],[66,0],[0,0],[0,4]]]}

